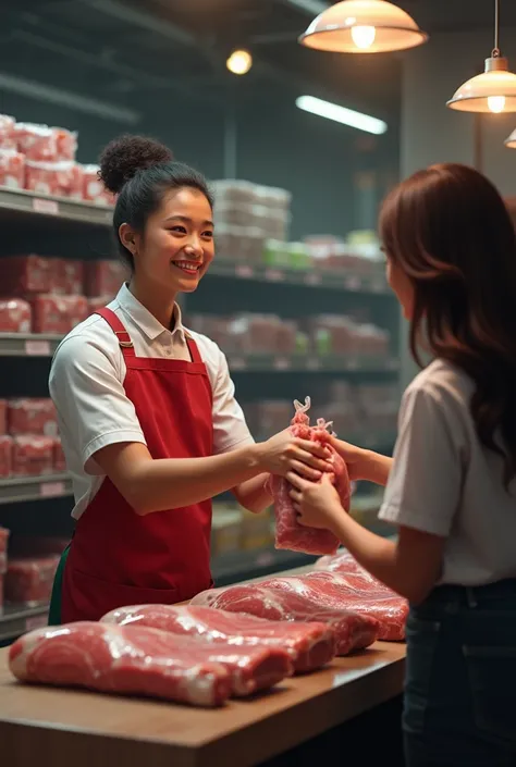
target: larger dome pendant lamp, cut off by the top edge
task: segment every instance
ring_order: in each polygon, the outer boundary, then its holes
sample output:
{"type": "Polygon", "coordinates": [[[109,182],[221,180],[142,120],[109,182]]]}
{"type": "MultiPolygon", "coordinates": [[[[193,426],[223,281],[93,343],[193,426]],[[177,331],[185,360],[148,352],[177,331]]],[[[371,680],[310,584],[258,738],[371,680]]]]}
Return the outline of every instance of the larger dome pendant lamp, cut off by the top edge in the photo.
{"type": "Polygon", "coordinates": [[[388,0],[343,0],[317,16],[299,37],[307,48],[337,53],[382,53],[428,40],[408,13],[388,0]]]}

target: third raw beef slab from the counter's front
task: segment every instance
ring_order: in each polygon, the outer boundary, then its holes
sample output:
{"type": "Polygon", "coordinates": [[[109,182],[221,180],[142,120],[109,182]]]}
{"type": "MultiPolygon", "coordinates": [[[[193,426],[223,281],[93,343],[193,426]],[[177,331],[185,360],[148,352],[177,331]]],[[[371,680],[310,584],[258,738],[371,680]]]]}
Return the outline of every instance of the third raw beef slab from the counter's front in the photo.
{"type": "Polygon", "coordinates": [[[378,620],[343,609],[332,609],[299,594],[266,589],[261,583],[229,586],[197,594],[191,605],[244,613],[268,620],[325,623],[336,638],[336,654],[369,647],[379,634],[378,620]]]}

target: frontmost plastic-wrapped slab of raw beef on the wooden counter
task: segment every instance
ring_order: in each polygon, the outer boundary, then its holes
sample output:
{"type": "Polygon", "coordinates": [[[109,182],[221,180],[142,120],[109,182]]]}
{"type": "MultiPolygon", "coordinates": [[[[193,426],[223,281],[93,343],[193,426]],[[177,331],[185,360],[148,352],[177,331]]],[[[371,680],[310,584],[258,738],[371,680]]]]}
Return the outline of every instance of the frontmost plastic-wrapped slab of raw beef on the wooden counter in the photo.
{"type": "MultiPolygon", "coordinates": [[[[90,686],[102,692],[133,692],[133,690],[125,686],[125,683],[127,680],[132,681],[136,676],[139,676],[140,667],[146,665],[153,666],[155,677],[161,677],[161,685],[163,685],[167,682],[168,669],[177,660],[181,663],[182,670],[188,671],[192,681],[196,678],[195,671],[199,664],[221,667],[228,675],[229,680],[228,686],[224,688],[226,697],[228,695],[233,695],[234,697],[253,695],[274,686],[286,677],[292,676],[293,672],[288,653],[278,647],[211,645],[205,642],[192,641],[187,636],[177,636],[165,631],[140,626],[122,627],[107,623],[77,622],[60,627],[62,635],[67,631],[71,632],[75,640],[74,645],[78,645],[81,650],[81,654],[74,653],[74,671],[72,673],[78,676],[78,679],[75,677],[73,680],[75,685],[90,686]],[[97,628],[94,629],[93,627],[97,628]],[[124,647],[124,643],[128,645],[127,651],[124,647]],[[102,651],[97,650],[99,644],[102,646],[102,651]],[[143,645],[143,652],[138,652],[138,645],[140,644],[143,645]],[[82,659],[85,650],[88,651],[87,657],[82,659]],[[94,651],[93,653],[91,650],[94,651]],[[108,658],[106,658],[107,651],[108,658]],[[102,658],[108,660],[106,665],[99,663],[102,658]],[[132,661],[134,660],[139,660],[136,667],[132,667],[132,661]],[[164,669],[160,668],[162,665],[165,665],[164,669]],[[127,669],[127,666],[132,667],[131,670],[127,669]],[[91,668],[89,670],[93,679],[90,678],[88,683],[82,683],[79,680],[83,679],[83,675],[88,667],[93,667],[93,675],[91,668]]],[[[62,647],[60,651],[52,651],[51,655],[49,652],[50,642],[56,636],[56,629],[40,629],[38,632],[29,634],[27,644],[30,642],[30,646],[41,647],[41,645],[38,645],[38,639],[41,639],[48,645],[47,653],[41,652],[39,656],[39,660],[41,660],[41,656],[46,655],[47,663],[41,664],[36,673],[34,673],[35,666],[33,665],[32,668],[27,669],[27,675],[23,672],[25,669],[20,675],[16,673],[15,669],[19,667],[13,668],[11,663],[10,668],[13,673],[24,681],[42,681],[53,684],[66,683],[67,680],[62,678],[58,668],[62,663],[58,658],[58,652],[61,654],[63,652],[62,647]]],[[[24,639],[22,638],[22,643],[24,639]]],[[[59,645],[60,643],[53,642],[53,644],[59,645]]],[[[66,653],[66,655],[70,669],[72,666],[70,653],[66,653]]],[[[12,658],[12,654],[10,657],[12,658]]],[[[72,680],[70,680],[70,683],[72,683],[72,680]]],[[[138,691],[135,690],[134,692],[138,691]]],[[[193,700],[188,700],[188,697],[179,700],[193,704],[199,703],[194,696],[193,700]]]]}

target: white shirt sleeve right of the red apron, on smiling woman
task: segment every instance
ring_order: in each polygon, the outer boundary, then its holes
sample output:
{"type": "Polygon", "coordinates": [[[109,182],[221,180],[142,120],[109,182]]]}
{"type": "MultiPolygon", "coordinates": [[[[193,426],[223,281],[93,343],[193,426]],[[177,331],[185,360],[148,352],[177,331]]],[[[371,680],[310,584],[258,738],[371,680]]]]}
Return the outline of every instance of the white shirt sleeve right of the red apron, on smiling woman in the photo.
{"type": "Polygon", "coordinates": [[[244,412],[235,399],[235,385],[224,354],[217,347],[219,364],[213,384],[213,453],[229,453],[236,447],[251,445],[255,441],[247,426],[244,412]]]}

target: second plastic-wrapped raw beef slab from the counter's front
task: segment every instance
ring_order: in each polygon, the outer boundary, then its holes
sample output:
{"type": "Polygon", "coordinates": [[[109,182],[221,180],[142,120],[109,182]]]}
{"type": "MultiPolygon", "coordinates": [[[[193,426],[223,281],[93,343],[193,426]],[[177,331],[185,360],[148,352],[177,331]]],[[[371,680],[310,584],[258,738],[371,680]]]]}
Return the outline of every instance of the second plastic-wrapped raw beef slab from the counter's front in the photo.
{"type": "Polygon", "coordinates": [[[235,647],[280,647],[290,654],[296,672],[321,668],[335,655],[334,632],[322,623],[300,626],[270,621],[211,607],[136,605],[108,613],[102,622],[149,626],[235,647]]]}

